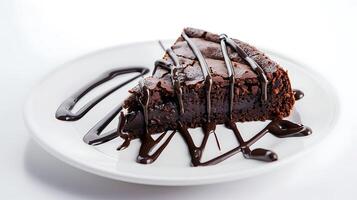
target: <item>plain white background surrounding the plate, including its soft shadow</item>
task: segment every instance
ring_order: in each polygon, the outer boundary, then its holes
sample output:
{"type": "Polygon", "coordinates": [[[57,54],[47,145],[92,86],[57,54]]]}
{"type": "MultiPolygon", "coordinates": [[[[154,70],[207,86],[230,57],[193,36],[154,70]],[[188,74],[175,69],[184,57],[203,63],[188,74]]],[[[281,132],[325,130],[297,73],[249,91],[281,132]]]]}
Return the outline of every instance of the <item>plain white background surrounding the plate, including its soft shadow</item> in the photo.
{"type": "Polygon", "coordinates": [[[356,199],[356,38],[353,0],[0,0],[1,199],[356,199]],[[327,77],[342,106],[333,137],[279,171],[196,187],[98,177],[60,162],[30,139],[23,102],[56,66],[101,48],[176,38],[186,26],[284,53],[327,77]]]}

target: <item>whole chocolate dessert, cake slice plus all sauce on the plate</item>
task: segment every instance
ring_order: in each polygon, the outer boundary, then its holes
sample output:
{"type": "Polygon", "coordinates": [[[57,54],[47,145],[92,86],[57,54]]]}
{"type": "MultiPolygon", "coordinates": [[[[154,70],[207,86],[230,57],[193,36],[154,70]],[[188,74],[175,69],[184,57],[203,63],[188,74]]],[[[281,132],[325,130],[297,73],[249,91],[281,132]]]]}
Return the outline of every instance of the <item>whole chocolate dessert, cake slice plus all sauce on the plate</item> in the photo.
{"type": "MultiPolygon", "coordinates": [[[[297,137],[311,133],[301,124],[283,120],[289,116],[295,100],[303,93],[292,90],[287,72],[257,48],[225,34],[216,35],[203,30],[186,28],[170,48],[165,48],[162,59],[155,62],[151,76],[139,81],[131,89],[130,97],[120,104],[84,137],[88,144],[101,144],[115,137],[124,139],[118,149],[129,146],[130,140],[140,139],[137,161],[155,161],[175,134],[180,134],[191,155],[194,166],[212,165],[242,152],[245,158],[275,161],[277,154],[250,146],[271,133],[277,137],[297,137]],[[101,134],[109,122],[119,114],[119,128],[101,134]],[[266,128],[244,141],[235,122],[271,120],[266,128]],[[225,124],[235,134],[239,146],[211,160],[201,162],[208,137],[215,133],[217,124],[225,124]],[[200,146],[193,143],[188,128],[202,127],[204,138],[200,146]],[[155,145],[171,132],[155,152],[155,145]],[[162,133],[154,140],[152,134],[162,133]]],[[[96,103],[122,87],[97,97],[78,113],[71,109],[94,87],[115,76],[139,72],[133,81],[148,73],[146,68],[125,68],[104,74],[89,86],[67,99],[57,110],[61,120],[78,120],[96,103]]],[[[218,141],[217,141],[218,142],[218,141]]]]}

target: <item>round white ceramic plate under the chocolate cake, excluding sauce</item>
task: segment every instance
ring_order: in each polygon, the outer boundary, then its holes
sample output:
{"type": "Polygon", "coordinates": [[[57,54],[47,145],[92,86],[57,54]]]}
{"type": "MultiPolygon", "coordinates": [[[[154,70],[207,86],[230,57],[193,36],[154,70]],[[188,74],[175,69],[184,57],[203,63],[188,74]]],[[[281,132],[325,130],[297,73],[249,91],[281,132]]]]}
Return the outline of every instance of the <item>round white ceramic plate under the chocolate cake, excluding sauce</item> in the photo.
{"type": "MultiPolygon", "coordinates": [[[[169,44],[170,41],[167,42],[169,44]]],[[[119,152],[115,150],[121,143],[119,138],[99,146],[85,144],[82,141],[85,133],[128,96],[127,90],[136,84],[135,81],[112,94],[79,121],[65,122],[54,117],[64,99],[103,72],[119,66],[153,66],[154,61],[163,55],[157,42],[105,49],[61,66],[34,89],[25,105],[25,120],[33,138],[51,154],[75,167],[112,179],[151,185],[199,185],[254,176],[290,163],[326,138],[331,134],[339,112],[336,94],[328,81],[305,65],[280,54],[267,52],[289,71],[293,87],[305,92],[305,97],[296,103],[290,119],[301,121],[313,129],[312,135],[301,138],[279,139],[268,134],[253,145],[275,151],[279,160],[273,163],[247,160],[237,154],[215,166],[191,167],[187,147],[179,134],[174,136],[158,160],[150,165],[135,162],[139,141],[133,141],[128,149],[119,152]]],[[[85,99],[90,99],[123,79],[99,87],[85,99]]],[[[116,123],[114,121],[111,128],[116,123]]],[[[249,122],[240,123],[238,127],[247,139],[265,124],[249,122]]],[[[211,137],[204,159],[237,145],[230,130],[219,127],[217,133],[222,151],[218,151],[211,137]]],[[[193,135],[195,141],[199,141],[202,136],[199,133],[193,135]]]]}

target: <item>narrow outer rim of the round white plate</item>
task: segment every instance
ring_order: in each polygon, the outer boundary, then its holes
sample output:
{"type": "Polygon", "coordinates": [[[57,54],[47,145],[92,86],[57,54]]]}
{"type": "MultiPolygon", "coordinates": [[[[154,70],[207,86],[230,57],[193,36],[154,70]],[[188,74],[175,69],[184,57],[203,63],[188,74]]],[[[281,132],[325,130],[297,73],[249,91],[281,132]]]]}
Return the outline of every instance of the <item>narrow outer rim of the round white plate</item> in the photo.
{"type": "MultiPolygon", "coordinates": [[[[165,40],[165,41],[171,41],[171,40],[165,40]]],[[[51,79],[51,77],[54,76],[56,73],[58,73],[61,69],[69,67],[69,65],[71,63],[81,60],[83,58],[87,58],[92,55],[100,54],[100,53],[110,51],[113,49],[117,49],[117,48],[125,48],[127,46],[134,46],[134,45],[136,45],[136,46],[145,45],[145,44],[148,45],[148,44],[152,44],[154,42],[156,42],[156,40],[127,43],[127,44],[123,44],[123,45],[116,45],[116,46],[112,46],[112,47],[108,47],[108,48],[99,49],[97,51],[89,52],[84,55],[78,56],[74,59],[71,59],[65,63],[58,65],[53,70],[50,70],[42,79],[40,79],[39,82],[37,82],[36,86],[32,89],[31,93],[27,97],[26,102],[24,104],[23,117],[24,117],[25,125],[28,128],[28,131],[29,131],[30,135],[32,136],[32,138],[38,144],[40,144],[40,146],[42,148],[44,148],[52,156],[58,158],[59,160],[65,162],[73,167],[76,167],[78,169],[84,170],[84,171],[92,173],[92,174],[96,174],[96,175],[103,176],[103,177],[110,178],[110,179],[130,182],[130,183],[139,183],[139,184],[147,184],[147,185],[161,185],[161,186],[163,186],[163,185],[165,185],[165,186],[188,186],[188,185],[203,185],[203,184],[213,184],[213,183],[219,183],[219,182],[239,180],[239,179],[244,179],[247,177],[263,174],[263,173],[272,171],[274,169],[281,168],[283,166],[286,166],[286,164],[290,163],[291,161],[297,160],[301,156],[303,156],[306,153],[310,152],[311,150],[317,148],[321,144],[322,141],[325,141],[328,139],[328,137],[331,137],[331,135],[333,135],[333,132],[335,132],[335,130],[336,130],[336,127],[337,127],[336,125],[338,124],[338,122],[340,120],[341,105],[340,105],[338,90],[336,90],[335,87],[332,84],[330,84],[328,79],[326,79],[323,74],[318,73],[313,68],[311,68],[309,65],[307,65],[303,62],[296,61],[294,58],[288,57],[285,54],[282,54],[275,50],[269,50],[267,48],[260,48],[264,52],[267,52],[268,54],[271,53],[271,54],[276,55],[276,56],[278,56],[282,59],[285,59],[289,62],[292,62],[294,64],[302,66],[303,70],[307,70],[311,75],[318,77],[319,80],[323,80],[323,82],[324,82],[324,85],[322,86],[323,88],[325,88],[325,89],[329,88],[329,90],[332,91],[331,97],[332,97],[332,102],[334,102],[333,111],[334,111],[335,117],[332,120],[331,129],[329,131],[330,134],[326,134],[325,136],[322,137],[321,140],[315,141],[313,143],[313,145],[310,146],[309,148],[305,148],[305,149],[299,151],[298,153],[295,153],[295,154],[289,156],[288,158],[285,158],[284,160],[279,160],[277,162],[269,163],[269,165],[262,165],[262,166],[255,167],[250,170],[245,170],[244,173],[239,173],[239,172],[222,173],[219,175],[205,176],[205,177],[200,178],[199,180],[197,180],[196,178],[190,179],[188,177],[184,177],[184,178],[180,178],[180,177],[169,177],[169,178],[168,177],[159,177],[158,178],[158,177],[153,177],[153,176],[148,176],[148,177],[136,176],[135,177],[135,176],[132,176],[132,174],[128,176],[127,174],[120,173],[119,171],[117,171],[117,173],[113,174],[109,171],[106,171],[105,169],[99,169],[98,167],[92,167],[92,166],[86,165],[85,163],[79,162],[77,159],[68,157],[68,156],[64,155],[63,153],[57,151],[56,149],[51,148],[51,146],[46,144],[45,141],[43,141],[40,137],[38,137],[39,135],[37,135],[36,132],[40,131],[40,130],[38,130],[37,125],[34,123],[33,120],[31,120],[31,117],[30,117],[31,116],[31,102],[33,101],[35,94],[37,94],[38,91],[40,91],[40,86],[44,82],[51,79]]],[[[211,166],[211,167],[214,167],[214,166],[211,166]]]]}

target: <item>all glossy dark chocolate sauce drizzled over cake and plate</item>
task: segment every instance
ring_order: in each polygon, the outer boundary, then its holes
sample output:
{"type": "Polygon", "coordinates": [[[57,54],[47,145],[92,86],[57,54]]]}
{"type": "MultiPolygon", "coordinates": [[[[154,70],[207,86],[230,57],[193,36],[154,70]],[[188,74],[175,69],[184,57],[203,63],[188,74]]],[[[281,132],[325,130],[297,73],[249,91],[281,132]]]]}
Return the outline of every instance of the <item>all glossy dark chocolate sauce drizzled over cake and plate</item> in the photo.
{"type": "MultiPolygon", "coordinates": [[[[296,124],[287,120],[283,119],[275,119],[272,120],[263,130],[255,134],[251,139],[244,141],[243,137],[241,136],[236,123],[232,120],[232,112],[233,112],[233,102],[234,102],[234,85],[235,85],[235,77],[234,77],[234,67],[228,55],[227,45],[233,48],[242,58],[249,63],[252,69],[258,74],[258,77],[261,80],[262,85],[262,101],[267,100],[267,78],[263,71],[263,69],[236,44],[232,39],[228,38],[225,34],[220,35],[220,44],[221,50],[223,53],[224,61],[227,65],[227,71],[229,76],[230,82],[230,101],[229,101],[229,116],[225,123],[225,126],[231,129],[239,143],[239,146],[221,154],[220,156],[214,157],[207,161],[201,161],[203,152],[205,150],[208,138],[211,133],[214,133],[215,139],[217,142],[217,146],[220,149],[220,144],[218,138],[215,133],[216,124],[210,121],[211,115],[211,88],[212,88],[212,77],[210,74],[209,67],[199,51],[199,49],[195,46],[194,42],[186,35],[185,32],[182,33],[183,39],[187,42],[188,46],[193,51],[194,55],[198,59],[201,70],[204,77],[205,87],[206,87],[206,100],[207,100],[207,123],[202,127],[203,130],[203,140],[200,146],[196,146],[193,142],[191,134],[189,133],[187,127],[181,122],[177,122],[177,130],[173,130],[168,138],[161,144],[159,148],[155,152],[153,148],[163,140],[165,135],[168,131],[162,133],[157,139],[153,139],[152,135],[148,132],[149,120],[148,120],[148,105],[150,102],[150,90],[145,86],[144,79],[139,82],[139,86],[141,88],[141,96],[138,97],[138,101],[142,105],[142,111],[144,114],[144,121],[145,121],[145,131],[144,134],[141,135],[134,135],[133,133],[125,133],[123,132],[123,127],[126,123],[124,117],[123,106],[120,104],[115,107],[111,112],[109,112],[102,120],[100,120],[93,128],[91,128],[88,133],[84,136],[83,141],[90,145],[98,145],[105,143],[109,140],[112,140],[116,137],[121,137],[124,139],[123,143],[117,148],[118,150],[122,150],[127,148],[130,145],[130,141],[132,139],[139,138],[141,140],[141,146],[139,150],[139,154],[137,157],[137,162],[142,164],[150,164],[154,162],[165,147],[169,144],[173,136],[178,131],[183,139],[185,140],[190,155],[191,155],[191,162],[193,166],[207,166],[207,165],[214,165],[219,162],[222,162],[229,157],[242,152],[244,158],[247,159],[254,159],[260,160],[265,162],[272,162],[278,159],[276,153],[271,150],[256,148],[251,150],[250,147],[257,142],[260,138],[262,138],[267,133],[271,133],[272,135],[285,138],[285,137],[301,137],[306,136],[312,133],[312,130],[304,126],[302,124],[296,124]],[[118,128],[116,130],[109,131],[107,133],[102,134],[102,131],[109,125],[109,123],[118,115],[119,113],[119,123],[118,128]]],[[[174,86],[175,94],[178,98],[178,106],[180,110],[180,114],[185,112],[183,100],[182,100],[182,88],[181,83],[178,77],[178,71],[181,69],[181,65],[179,63],[179,59],[176,54],[172,51],[171,48],[165,48],[161,41],[159,44],[162,49],[170,56],[173,64],[166,60],[158,60],[155,62],[155,68],[153,74],[157,70],[158,67],[165,69],[170,72],[172,84],[174,86]]],[[[75,121],[82,118],[89,110],[91,110],[97,103],[103,100],[105,97],[113,93],[114,91],[120,89],[124,85],[130,83],[131,81],[137,79],[140,76],[147,74],[149,70],[145,67],[128,67],[128,68],[121,68],[109,71],[103,74],[101,77],[95,79],[93,82],[88,84],[87,86],[80,89],[78,92],[70,96],[66,99],[57,109],[56,118],[63,121],[75,121]],[[124,83],[119,84],[118,86],[112,88],[111,90],[107,91],[106,93],[99,95],[98,97],[91,100],[89,103],[84,105],[78,112],[72,113],[73,107],[78,103],[78,101],[85,96],[88,92],[93,90],[95,87],[113,79],[116,76],[128,73],[139,73],[138,75],[134,76],[133,78],[125,81],[124,83]]],[[[304,97],[304,93],[300,90],[294,90],[294,97],[295,100],[299,100],[304,97]]]]}

